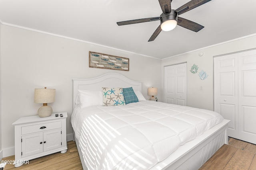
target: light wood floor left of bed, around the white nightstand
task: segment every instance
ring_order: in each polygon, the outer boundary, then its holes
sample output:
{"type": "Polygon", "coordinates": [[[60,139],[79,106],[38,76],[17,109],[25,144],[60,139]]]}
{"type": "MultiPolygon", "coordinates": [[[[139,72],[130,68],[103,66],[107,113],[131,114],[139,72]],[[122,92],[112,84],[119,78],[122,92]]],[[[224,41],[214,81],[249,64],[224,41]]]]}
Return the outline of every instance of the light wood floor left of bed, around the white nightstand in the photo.
{"type": "MultiPolygon", "coordinates": [[[[15,160],[14,155],[2,160],[15,160]]],[[[82,164],[78,155],[75,141],[68,142],[68,150],[36,158],[29,161],[29,164],[15,168],[12,164],[6,164],[4,170],[82,170],[82,164]]]]}

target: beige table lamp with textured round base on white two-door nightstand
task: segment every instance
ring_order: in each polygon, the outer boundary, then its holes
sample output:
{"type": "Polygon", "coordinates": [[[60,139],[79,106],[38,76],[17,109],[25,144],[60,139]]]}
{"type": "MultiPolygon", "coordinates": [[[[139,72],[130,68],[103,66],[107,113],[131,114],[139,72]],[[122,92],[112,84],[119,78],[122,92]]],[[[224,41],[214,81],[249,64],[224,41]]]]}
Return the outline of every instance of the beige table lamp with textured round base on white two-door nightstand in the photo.
{"type": "Polygon", "coordinates": [[[47,117],[52,114],[52,107],[47,103],[55,102],[55,89],[35,88],[34,103],[42,103],[37,111],[39,117],[47,117]]]}

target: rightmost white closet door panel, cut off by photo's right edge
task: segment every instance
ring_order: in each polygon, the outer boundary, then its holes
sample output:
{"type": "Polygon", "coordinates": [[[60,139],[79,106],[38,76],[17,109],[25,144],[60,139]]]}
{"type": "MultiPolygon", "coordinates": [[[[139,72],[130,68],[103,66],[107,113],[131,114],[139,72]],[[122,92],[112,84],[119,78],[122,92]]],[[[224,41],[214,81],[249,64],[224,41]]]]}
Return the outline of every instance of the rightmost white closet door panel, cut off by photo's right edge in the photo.
{"type": "Polygon", "coordinates": [[[256,144],[256,50],[238,53],[240,139],[256,144]]]}

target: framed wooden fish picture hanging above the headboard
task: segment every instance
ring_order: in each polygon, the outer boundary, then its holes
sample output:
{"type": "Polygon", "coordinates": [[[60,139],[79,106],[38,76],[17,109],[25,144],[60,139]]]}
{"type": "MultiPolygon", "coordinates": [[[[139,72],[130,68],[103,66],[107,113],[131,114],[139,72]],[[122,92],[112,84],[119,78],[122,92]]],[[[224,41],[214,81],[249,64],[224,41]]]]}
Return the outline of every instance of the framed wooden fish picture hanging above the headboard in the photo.
{"type": "Polygon", "coordinates": [[[129,58],[89,51],[89,67],[129,71],[129,58]]]}

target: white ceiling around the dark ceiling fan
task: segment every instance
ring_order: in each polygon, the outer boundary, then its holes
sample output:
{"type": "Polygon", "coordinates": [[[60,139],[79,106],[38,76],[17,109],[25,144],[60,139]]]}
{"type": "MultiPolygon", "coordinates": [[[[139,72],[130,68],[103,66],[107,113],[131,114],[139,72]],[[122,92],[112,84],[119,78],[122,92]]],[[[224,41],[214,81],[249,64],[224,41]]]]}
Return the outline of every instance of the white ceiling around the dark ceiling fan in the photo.
{"type": "MultiPolygon", "coordinates": [[[[173,0],[177,9],[189,0],[173,0]]],[[[6,25],[58,34],[164,59],[256,33],[256,0],[211,0],[180,17],[204,26],[177,26],[148,42],[160,21],[118,26],[117,21],[158,17],[158,0],[0,0],[6,25]]],[[[252,42],[255,43],[255,42],[252,42]]]]}

